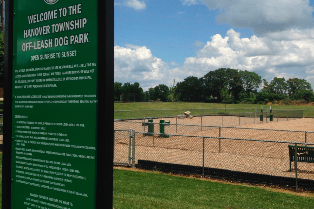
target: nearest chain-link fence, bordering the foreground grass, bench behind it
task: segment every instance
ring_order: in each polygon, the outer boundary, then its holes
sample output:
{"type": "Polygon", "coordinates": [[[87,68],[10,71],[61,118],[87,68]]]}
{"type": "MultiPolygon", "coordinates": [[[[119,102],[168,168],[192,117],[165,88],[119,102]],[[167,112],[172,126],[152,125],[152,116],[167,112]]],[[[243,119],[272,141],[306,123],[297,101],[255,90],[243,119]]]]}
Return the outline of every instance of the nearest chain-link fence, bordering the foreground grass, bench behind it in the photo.
{"type": "MultiPolygon", "coordinates": [[[[123,132],[129,136],[128,130],[123,132]]],[[[132,159],[128,161],[132,166],[314,190],[312,143],[135,131],[121,143],[117,136],[115,159],[124,154],[125,159],[132,159]],[[289,145],[300,150],[289,151],[289,145]],[[117,146],[124,152],[117,151],[117,146]]]]}

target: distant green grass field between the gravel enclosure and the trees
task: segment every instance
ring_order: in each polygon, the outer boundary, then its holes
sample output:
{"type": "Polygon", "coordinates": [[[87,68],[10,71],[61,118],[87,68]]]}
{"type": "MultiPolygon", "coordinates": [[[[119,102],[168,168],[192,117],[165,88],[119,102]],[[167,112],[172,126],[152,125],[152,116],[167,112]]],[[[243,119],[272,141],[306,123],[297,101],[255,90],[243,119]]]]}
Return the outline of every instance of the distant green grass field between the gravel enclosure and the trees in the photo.
{"type": "MultiPolygon", "coordinates": [[[[166,117],[176,116],[185,111],[192,112],[193,115],[202,114],[221,114],[221,113],[242,113],[243,109],[263,109],[272,108],[272,110],[314,110],[314,106],[301,105],[250,105],[250,104],[216,104],[216,103],[201,103],[201,102],[174,102],[173,111],[171,112],[171,102],[162,103],[114,103],[114,110],[141,110],[141,111],[123,111],[115,112],[115,119],[122,118],[146,118],[146,117],[166,117]],[[206,110],[208,108],[216,108],[215,110],[206,110]],[[179,111],[180,110],[180,111],[179,111]]],[[[304,117],[314,118],[314,111],[304,111],[304,117]]]]}

